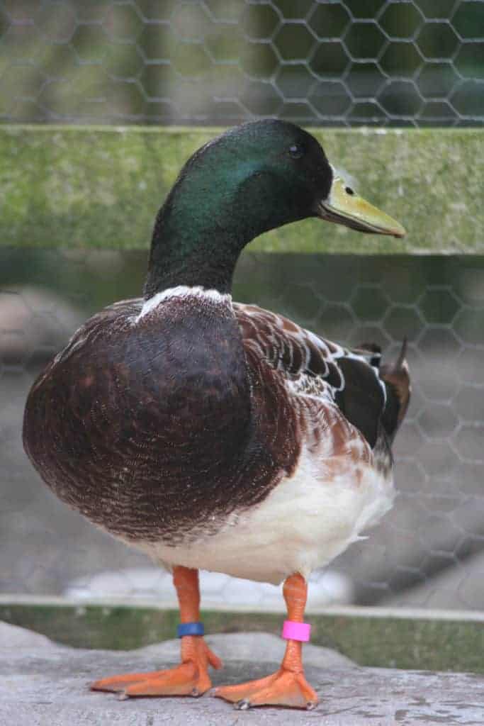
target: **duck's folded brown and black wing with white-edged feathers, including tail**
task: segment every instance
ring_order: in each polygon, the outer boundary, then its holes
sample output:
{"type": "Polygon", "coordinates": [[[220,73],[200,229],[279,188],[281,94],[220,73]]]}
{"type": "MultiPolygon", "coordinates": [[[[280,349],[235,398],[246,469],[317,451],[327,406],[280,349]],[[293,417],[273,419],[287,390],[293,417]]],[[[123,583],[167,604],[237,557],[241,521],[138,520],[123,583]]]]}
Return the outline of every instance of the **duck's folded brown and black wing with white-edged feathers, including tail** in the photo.
{"type": "Polygon", "coordinates": [[[345,417],[374,446],[383,427],[390,438],[401,422],[409,397],[403,356],[380,376],[380,349],[344,348],[253,305],[234,303],[247,348],[284,377],[288,391],[337,404],[345,417]],[[401,382],[397,388],[390,377],[401,382]]]}

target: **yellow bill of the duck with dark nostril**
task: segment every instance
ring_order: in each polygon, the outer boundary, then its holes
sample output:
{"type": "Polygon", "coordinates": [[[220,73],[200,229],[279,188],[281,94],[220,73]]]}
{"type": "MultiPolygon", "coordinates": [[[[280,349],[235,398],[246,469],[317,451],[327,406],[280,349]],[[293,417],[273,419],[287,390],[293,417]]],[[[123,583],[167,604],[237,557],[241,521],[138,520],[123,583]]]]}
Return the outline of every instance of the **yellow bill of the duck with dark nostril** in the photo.
{"type": "Polygon", "coordinates": [[[327,199],[319,203],[318,216],[358,232],[391,234],[393,237],[406,234],[398,221],[356,194],[339,176],[334,177],[327,199]]]}

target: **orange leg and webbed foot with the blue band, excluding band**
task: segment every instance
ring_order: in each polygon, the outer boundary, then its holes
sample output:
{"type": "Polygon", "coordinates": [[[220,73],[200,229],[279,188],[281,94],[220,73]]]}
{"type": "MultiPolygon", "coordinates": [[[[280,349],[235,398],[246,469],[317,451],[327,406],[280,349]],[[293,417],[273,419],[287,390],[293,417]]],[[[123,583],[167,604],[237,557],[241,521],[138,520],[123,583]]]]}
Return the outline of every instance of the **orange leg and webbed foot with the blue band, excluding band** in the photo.
{"type": "MultiPolygon", "coordinates": [[[[198,570],[173,568],[173,584],[180,605],[180,621],[200,620],[198,570]]],[[[208,666],[221,668],[222,662],[212,653],[202,635],[181,638],[181,664],[176,668],[151,673],[131,673],[94,681],[91,690],[110,690],[128,696],[201,696],[211,688],[208,666]]]]}

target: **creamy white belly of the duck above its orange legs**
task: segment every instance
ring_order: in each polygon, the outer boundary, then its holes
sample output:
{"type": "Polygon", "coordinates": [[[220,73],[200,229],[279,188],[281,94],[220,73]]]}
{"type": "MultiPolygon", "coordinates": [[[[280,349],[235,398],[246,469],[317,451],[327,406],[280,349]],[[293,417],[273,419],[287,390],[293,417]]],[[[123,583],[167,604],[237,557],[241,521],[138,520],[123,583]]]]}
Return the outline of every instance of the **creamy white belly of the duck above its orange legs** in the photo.
{"type": "Polygon", "coordinates": [[[279,584],[290,574],[308,577],[340,555],[364,529],[380,520],[393,503],[391,475],[350,459],[331,461],[325,476],[321,460],[303,451],[294,476],[247,512],[232,514],[218,534],[184,547],[153,542],[140,547],[171,567],[182,565],[234,577],[279,584]],[[331,476],[329,474],[331,473],[331,476]]]}

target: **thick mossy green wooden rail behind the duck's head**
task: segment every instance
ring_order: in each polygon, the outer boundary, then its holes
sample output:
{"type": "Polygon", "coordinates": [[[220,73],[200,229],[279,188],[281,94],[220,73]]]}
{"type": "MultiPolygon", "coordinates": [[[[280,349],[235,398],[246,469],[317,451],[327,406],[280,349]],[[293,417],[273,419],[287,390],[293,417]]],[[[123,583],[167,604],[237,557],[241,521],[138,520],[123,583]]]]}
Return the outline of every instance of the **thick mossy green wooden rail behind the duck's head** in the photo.
{"type": "MultiPolygon", "coordinates": [[[[189,155],[220,129],[0,126],[0,244],[147,248],[189,155]]],[[[404,240],[305,220],[252,248],[277,252],[484,250],[484,131],[311,129],[329,160],[401,221],[404,240]]]]}

